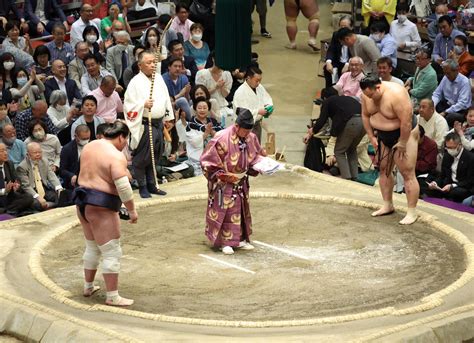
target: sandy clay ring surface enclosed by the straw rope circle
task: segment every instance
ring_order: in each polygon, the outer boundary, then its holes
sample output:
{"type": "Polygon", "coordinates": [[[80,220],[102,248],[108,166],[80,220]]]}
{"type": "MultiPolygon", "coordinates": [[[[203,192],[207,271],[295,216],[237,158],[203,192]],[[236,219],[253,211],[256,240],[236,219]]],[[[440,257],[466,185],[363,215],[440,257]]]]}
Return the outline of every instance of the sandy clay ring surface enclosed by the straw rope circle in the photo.
{"type": "MultiPolygon", "coordinates": [[[[370,218],[367,208],[279,198],[251,199],[261,243],[224,256],[207,245],[205,207],[160,204],[142,209],[138,225],[122,222],[120,292],[135,299],[130,309],[245,321],[345,315],[416,303],[466,266],[458,243],[425,223],[398,225],[402,214],[370,218]]],[[[103,303],[105,292],[80,295],[83,249],[81,228],[69,230],[44,252],[43,268],[73,300],[103,303]]]]}

